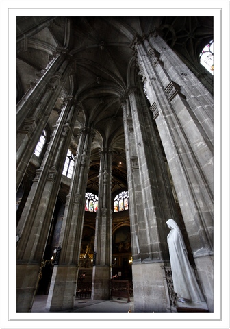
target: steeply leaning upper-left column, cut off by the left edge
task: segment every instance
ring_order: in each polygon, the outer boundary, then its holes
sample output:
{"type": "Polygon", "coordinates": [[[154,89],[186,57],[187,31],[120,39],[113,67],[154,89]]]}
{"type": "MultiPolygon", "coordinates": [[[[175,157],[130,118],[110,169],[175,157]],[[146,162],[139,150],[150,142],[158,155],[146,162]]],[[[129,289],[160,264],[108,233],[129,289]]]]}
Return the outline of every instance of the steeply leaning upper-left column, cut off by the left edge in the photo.
{"type": "Polygon", "coordinates": [[[60,53],[46,69],[38,73],[40,79],[31,83],[31,88],[18,103],[17,188],[70,73],[66,55],[60,53]]]}

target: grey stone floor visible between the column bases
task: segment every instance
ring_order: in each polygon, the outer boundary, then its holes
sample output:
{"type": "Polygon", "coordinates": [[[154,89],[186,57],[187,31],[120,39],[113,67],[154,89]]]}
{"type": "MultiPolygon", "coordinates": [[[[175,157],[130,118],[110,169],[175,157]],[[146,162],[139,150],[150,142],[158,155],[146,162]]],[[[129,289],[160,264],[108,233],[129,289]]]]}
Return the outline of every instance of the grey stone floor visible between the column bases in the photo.
{"type": "MultiPolygon", "coordinates": [[[[80,312],[80,313],[127,313],[133,312],[133,297],[130,298],[131,302],[127,303],[127,298],[114,298],[113,300],[75,300],[75,308],[73,310],[65,310],[67,312],[80,312]]],[[[49,310],[46,309],[47,295],[37,295],[34,299],[34,304],[31,312],[42,313],[49,310]]]]}

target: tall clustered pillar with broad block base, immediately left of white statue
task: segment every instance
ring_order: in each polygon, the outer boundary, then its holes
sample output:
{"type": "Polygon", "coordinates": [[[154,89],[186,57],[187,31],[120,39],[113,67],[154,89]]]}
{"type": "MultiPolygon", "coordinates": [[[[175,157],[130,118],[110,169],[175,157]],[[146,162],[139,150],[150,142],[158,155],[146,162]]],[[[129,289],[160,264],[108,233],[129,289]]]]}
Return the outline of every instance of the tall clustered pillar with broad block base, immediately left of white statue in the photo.
{"type": "Polygon", "coordinates": [[[150,112],[138,88],[129,88],[123,116],[135,311],[164,312],[162,265],[169,260],[165,218],[177,210],[150,112]]]}

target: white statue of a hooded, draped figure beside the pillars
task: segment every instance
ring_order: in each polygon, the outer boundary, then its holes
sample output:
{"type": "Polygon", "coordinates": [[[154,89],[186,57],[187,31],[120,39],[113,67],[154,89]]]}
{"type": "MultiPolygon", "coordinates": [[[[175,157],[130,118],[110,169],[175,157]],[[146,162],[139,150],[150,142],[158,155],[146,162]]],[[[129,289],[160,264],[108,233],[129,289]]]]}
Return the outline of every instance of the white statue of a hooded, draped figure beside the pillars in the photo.
{"type": "Polygon", "coordinates": [[[187,256],[186,245],[179,226],[173,219],[166,221],[170,233],[167,236],[172,280],[180,302],[203,302],[204,297],[196,281],[187,256]]]}

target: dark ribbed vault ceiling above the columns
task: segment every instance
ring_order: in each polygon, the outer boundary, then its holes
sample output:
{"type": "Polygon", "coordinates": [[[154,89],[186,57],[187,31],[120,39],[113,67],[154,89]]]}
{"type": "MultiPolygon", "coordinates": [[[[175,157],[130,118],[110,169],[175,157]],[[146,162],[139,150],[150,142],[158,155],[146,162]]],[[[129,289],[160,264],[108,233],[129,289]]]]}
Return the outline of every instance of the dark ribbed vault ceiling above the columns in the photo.
{"type": "Polygon", "coordinates": [[[58,47],[68,49],[72,72],[49,118],[49,130],[58,118],[62,99],[75,95],[81,104],[71,149],[76,151],[79,128],[86,123],[97,132],[94,138],[88,190],[97,192],[99,148],[112,147],[112,192],[127,188],[123,114],[120,98],[134,81],[134,51],[130,45],[136,35],[142,36],[159,27],[170,47],[189,62],[196,61],[201,45],[209,42],[213,33],[212,19],[199,17],[57,17],[18,18],[18,40],[29,26],[44,23],[18,42],[17,95],[18,100],[36,80],[36,72],[44,69],[49,56],[58,47]],[[49,20],[49,24],[46,22],[49,20]],[[21,46],[23,45],[23,46],[21,46]]]}

